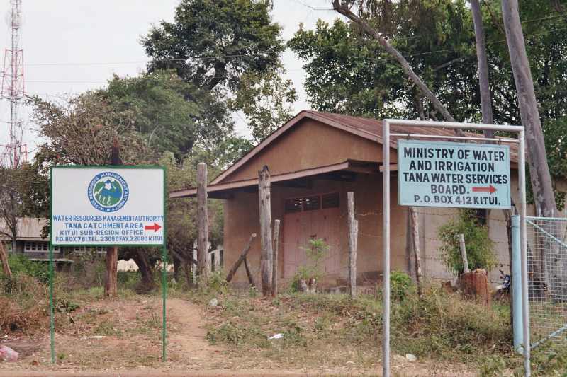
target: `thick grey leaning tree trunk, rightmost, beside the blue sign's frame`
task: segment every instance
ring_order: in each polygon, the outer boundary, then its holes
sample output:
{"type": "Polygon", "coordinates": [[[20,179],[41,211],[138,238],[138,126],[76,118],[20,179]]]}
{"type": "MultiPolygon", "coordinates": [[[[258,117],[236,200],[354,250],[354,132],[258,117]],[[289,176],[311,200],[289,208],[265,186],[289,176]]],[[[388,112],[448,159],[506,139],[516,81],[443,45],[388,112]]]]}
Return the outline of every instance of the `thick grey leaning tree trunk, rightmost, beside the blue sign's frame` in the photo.
{"type": "Polygon", "coordinates": [[[556,215],[557,207],[547,165],[544,132],[541,130],[534,81],[527,59],[517,0],[502,1],[502,16],[516,83],[520,117],[525,127],[529,177],[532,180],[537,213],[541,216],[553,217],[556,215]]]}

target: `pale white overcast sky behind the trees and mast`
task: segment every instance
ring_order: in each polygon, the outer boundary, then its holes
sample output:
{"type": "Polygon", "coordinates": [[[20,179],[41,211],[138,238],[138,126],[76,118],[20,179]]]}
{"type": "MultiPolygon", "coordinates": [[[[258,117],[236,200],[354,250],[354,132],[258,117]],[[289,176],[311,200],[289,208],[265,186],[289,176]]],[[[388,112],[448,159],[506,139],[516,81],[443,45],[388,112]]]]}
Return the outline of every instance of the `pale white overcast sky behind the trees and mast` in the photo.
{"type": "MultiPolygon", "coordinates": [[[[152,23],[172,21],[179,0],[23,0],[21,47],[24,54],[26,93],[55,98],[104,86],[112,74],[136,75],[145,69],[147,57],[140,43],[152,23]]],[[[8,17],[9,0],[0,0],[0,15],[8,17]]],[[[275,0],[272,15],[283,26],[288,40],[299,23],[313,28],[318,18],[332,21],[337,13],[330,10],[330,0],[275,0]]],[[[0,23],[0,42],[9,47],[10,29],[0,23]]],[[[303,90],[302,62],[286,51],[283,63],[293,80],[299,100],[295,110],[309,108],[303,90]]],[[[9,106],[0,103],[0,142],[8,140],[9,106]]],[[[33,124],[27,122],[23,142],[33,151],[38,140],[33,124]]],[[[248,134],[237,120],[240,134],[248,134]]]]}

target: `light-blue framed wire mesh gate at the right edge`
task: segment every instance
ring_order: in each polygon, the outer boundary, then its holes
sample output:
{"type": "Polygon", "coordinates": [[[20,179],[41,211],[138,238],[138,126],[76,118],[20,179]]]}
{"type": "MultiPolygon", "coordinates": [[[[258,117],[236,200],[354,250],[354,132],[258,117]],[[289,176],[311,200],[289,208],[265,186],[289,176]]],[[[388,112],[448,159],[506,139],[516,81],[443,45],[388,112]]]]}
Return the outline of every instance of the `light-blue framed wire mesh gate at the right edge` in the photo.
{"type": "Polygon", "coordinates": [[[567,219],[527,221],[529,320],[532,347],[567,340],[567,219]]]}

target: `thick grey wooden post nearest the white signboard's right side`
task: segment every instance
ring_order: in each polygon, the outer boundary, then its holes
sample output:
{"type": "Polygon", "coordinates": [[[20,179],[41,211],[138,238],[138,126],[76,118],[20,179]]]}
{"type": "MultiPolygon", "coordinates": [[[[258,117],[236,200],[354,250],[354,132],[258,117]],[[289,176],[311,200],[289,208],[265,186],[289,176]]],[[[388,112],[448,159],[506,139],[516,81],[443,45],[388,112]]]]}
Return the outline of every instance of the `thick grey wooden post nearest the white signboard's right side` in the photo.
{"type": "Polygon", "coordinates": [[[208,282],[208,208],[207,208],[207,165],[197,166],[197,275],[198,284],[208,282]]]}

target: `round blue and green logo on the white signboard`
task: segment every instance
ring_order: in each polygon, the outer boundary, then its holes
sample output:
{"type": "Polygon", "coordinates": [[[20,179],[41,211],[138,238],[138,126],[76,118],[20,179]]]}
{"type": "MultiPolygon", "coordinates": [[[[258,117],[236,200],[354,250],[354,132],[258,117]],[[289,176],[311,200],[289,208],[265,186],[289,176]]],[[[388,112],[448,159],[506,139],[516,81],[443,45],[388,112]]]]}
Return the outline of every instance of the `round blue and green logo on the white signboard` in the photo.
{"type": "Polygon", "coordinates": [[[106,171],[94,176],[89,183],[87,194],[94,208],[103,212],[113,212],[124,207],[130,191],[124,178],[106,171]]]}

